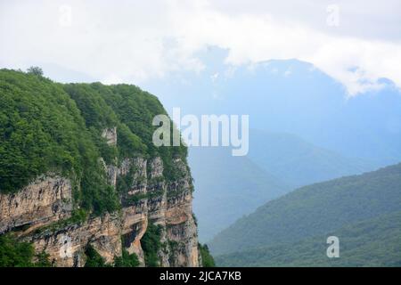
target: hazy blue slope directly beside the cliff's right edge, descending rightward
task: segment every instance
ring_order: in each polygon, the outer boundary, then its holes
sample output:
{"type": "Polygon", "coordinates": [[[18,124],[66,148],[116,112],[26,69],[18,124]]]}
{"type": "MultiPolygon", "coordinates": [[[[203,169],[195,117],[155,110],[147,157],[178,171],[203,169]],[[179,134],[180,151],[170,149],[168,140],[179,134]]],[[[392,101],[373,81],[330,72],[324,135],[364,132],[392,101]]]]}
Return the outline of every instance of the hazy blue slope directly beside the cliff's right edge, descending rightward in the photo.
{"type": "Polygon", "coordinates": [[[229,149],[190,148],[189,153],[196,189],[193,208],[202,241],[291,190],[247,157],[231,156],[229,149]]]}

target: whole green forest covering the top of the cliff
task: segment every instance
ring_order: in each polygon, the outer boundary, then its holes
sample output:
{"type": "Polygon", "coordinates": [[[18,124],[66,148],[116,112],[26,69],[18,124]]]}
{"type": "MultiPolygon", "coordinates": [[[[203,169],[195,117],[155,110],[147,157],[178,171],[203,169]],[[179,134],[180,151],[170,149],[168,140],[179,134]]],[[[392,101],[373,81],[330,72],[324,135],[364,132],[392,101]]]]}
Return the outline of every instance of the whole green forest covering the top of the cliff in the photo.
{"type": "Polygon", "coordinates": [[[29,73],[0,70],[0,191],[15,192],[48,172],[71,178],[76,205],[101,215],[119,209],[100,158],[118,164],[160,155],[168,177],[185,146],[156,148],[152,118],[166,114],[159,100],[134,85],[53,83],[29,73]],[[117,147],[102,130],[117,127],[117,147]]]}

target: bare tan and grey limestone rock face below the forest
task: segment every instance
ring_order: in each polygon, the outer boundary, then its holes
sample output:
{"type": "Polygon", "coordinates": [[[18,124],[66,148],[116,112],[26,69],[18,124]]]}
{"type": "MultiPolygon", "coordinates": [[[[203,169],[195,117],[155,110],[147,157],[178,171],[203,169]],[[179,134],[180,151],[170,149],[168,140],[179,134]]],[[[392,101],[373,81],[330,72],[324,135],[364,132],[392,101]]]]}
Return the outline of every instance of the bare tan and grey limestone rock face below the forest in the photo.
{"type": "Polygon", "coordinates": [[[16,194],[0,194],[0,230],[15,231],[26,225],[17,231],[20,239],[32,242],[37,252],[49,254],[55,266],[85,265],[88,245],[106,263],[121,256],[125,248],[145,265],[141,239],[148,224],[159,224],[163,244],[160,265],[199,266],[192,178],[184,161],[176,159],[175,164],[180,177],[167,181],[160,158],[123,159],[114,171],[116,178],[110,180],[113,186],[119,179],[129,182],[127,191],[120,193],[121,211],[59,226],[53,223],[71,216],[70,180],[40,177],[16,194]]]}

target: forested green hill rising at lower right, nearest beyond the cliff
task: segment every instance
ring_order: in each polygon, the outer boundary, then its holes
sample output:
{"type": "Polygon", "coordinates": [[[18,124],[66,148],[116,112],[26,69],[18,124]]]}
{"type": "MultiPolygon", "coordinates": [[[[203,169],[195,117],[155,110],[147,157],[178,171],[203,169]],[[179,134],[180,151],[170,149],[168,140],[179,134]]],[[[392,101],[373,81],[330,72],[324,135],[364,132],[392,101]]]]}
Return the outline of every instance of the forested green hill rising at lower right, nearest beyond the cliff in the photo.
{"type": "Polygon", "coordinates": [[[224,266],[399,266],[401,164],[299,188],[209,243],[224,266]],[[340,258],[326,256],[327,237],[340,258]]]}

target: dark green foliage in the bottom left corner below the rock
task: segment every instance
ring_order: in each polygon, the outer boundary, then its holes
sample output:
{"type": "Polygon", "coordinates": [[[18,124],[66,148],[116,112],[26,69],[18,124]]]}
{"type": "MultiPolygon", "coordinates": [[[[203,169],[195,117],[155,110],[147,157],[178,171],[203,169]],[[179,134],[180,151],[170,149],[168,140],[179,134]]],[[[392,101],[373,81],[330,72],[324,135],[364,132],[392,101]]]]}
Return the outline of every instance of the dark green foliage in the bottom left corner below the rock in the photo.
{"type": "Polygon", "coordinates": [[[12,234],[0,235],[0,267],[49,267],[48,255],[39,253],[34,262],[32,244],[16,240],[12,234]]]}

